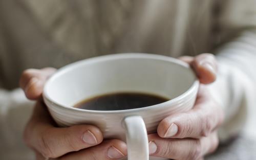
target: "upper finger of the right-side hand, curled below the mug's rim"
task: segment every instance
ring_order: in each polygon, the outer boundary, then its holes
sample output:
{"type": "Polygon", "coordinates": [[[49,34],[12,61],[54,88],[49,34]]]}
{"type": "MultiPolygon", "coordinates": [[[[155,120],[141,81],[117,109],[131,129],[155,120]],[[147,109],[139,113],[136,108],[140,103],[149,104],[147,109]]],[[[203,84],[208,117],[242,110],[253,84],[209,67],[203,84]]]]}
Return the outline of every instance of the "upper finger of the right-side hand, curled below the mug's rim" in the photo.
{"type": "Polygon", "coordinates": [[[161,138],[200,138],[207,136],[223,122],[221,107],[201,85],[194,108],[163,119],[157,128],[161,138]]]}

